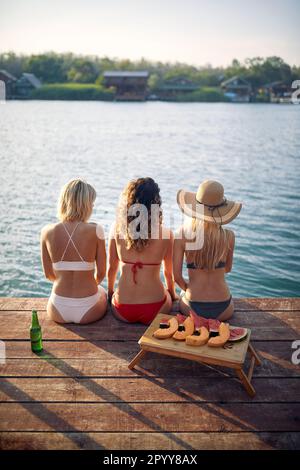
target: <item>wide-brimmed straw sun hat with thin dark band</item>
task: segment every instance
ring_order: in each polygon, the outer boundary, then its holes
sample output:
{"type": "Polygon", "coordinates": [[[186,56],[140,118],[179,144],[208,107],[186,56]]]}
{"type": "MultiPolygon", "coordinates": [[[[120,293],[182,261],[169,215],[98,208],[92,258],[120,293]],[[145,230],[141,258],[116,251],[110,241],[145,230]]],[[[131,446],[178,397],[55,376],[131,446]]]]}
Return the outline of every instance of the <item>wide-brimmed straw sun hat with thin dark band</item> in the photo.
{"type": "Polygon", "coordinates": [[[220,225],[231,222],[242,208],[240,202],[226,199],[222,184],[212,180],[203,181],[196,193],[180,189],[177,203],[187,216],[220,225]]]}

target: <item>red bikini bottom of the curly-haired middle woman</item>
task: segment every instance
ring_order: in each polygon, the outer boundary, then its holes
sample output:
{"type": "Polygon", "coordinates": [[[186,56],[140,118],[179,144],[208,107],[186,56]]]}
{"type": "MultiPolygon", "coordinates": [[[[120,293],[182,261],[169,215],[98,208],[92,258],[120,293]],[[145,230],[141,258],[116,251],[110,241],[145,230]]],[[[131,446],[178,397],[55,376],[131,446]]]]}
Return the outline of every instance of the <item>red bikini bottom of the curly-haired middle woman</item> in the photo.
{"type": "Polygon", "coordinates": [[[119,304],[114,298],[113,306],[118,314],[129,323],[143,323],[144,325],[149,325],[165,303],[166,298],[165,296],[159,302],[152,302],[150,304],[119,304]]]}

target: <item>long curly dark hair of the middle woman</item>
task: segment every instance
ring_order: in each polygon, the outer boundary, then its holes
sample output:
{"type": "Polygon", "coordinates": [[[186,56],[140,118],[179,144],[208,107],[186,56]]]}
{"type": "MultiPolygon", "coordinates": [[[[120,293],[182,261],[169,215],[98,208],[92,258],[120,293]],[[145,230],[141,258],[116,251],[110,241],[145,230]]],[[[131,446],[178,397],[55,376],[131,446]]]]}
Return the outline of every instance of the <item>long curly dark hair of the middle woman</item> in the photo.
{"type": "MultiPolygon", "coordinates": [[[[125,187],[121,196],[122,210],[119,211],[119,218],[117,220],[117,233],[122,233],[125,239],[126,248],[134,248],[137,251],[143,250],[151,238],[151,207],[152,204],[159,206],[158,223],[162,224],[162,211],[161,211],[161,197],[158,184],[150,177],[138,178],[130,181],[125,187]],[[129,209],[134,204],[143,204],[147,209],[147,220],[144,224],[147,230],[147,236],[141,236],[142,227],[139,227],[138,238],[133,237],[130,231],[130,223],[136,219],[136,215],[129,215],[129,209]]],[[[155,221],[154,221],[155,222],[155,221]]],[[[143,222],[142,222],[143,223],[143,222]]],[[[141,225],[141,224],[139,224],[141,225]]]]}

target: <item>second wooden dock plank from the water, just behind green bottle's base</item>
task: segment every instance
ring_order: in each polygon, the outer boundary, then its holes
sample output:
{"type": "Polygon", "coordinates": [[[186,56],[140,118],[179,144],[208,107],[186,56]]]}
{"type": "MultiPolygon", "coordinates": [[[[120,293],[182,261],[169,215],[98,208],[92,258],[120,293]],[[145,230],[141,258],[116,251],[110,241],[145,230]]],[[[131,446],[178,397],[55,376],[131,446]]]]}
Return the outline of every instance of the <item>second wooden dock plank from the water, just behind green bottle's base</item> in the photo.
{"type": "MultiPolygon", "coordinates": [[[[0,313],[0,338],[28,339],[30,312],[6,311],[0,313]]],[[[103,320],[90,325],[58,325],[47,319],[46,312],[39,314],[45,339],[66,340],[126,340],[138,341],[145,332],[143,325],[124,324],[107,314],[103,320]],[[105,331],[105,335],[103,334],[105,331]]],[[[253,340],[294,340],[300,337],[300,311],[293,312],[239,312],[231,323],[251,328],[253,340]]]]}

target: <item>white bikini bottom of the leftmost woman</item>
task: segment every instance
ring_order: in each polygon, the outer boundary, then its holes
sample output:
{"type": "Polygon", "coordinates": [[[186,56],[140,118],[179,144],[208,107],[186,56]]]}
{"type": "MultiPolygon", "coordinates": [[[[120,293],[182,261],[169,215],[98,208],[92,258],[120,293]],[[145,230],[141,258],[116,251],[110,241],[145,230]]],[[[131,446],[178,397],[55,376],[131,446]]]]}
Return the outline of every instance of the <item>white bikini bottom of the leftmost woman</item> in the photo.
{"type": "Polygon", "coordinates": [[[80,323],[86,312],[99,302],[102,295],[105,295],[105,290],[101,286],[98,286],[96,294],[89,297],[63,297],[52,291],[48,302],[54,305],[65,322],[80,323]]]}

